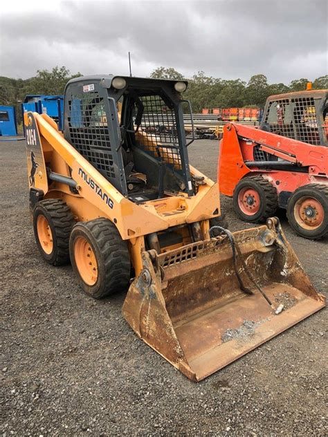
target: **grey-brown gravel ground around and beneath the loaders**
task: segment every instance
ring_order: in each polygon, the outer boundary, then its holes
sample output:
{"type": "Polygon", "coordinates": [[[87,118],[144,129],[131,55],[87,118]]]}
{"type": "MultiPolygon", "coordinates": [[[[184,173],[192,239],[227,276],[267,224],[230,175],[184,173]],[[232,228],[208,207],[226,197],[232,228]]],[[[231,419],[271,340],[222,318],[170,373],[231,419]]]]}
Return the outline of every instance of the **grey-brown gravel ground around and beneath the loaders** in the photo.
{"type": "MultiPolygon", "coordinates": [[[[3,436],[327,435],[325,310],[191,382],[134,335],[121,315],[123,295],[93,301],[70,266],[42,261],[24,147],[0,144],[3,436]]],[[[194,143],[190,160],[216,178],[217,142],[194,143]]],[[[230,199],[222,206],[232,230],[247,226],[230,199]]],[[[327,241],[295,236],[281,220],[314,285],[327,292],[327,241]]]]}

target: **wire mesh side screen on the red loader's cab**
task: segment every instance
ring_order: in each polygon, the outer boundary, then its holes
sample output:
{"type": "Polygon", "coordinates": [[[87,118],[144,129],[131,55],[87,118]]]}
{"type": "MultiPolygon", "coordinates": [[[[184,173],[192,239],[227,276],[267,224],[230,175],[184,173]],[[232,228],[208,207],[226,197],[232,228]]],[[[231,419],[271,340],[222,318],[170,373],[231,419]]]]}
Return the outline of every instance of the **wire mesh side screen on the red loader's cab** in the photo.
{"type": "Polygon", "coordinates": [[[273,133],[320,145],[313,97],[270,102],[264,122],[273,133]]]}

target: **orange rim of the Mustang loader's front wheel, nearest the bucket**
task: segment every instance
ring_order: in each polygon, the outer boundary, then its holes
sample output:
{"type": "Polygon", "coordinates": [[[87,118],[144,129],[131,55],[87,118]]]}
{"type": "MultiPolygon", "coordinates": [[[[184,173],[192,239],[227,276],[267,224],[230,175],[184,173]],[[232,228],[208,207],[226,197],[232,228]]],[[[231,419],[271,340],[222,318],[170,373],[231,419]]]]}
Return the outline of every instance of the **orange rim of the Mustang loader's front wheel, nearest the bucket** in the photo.
{"type": "Polygon", "coordinates": [[[80,277],[88,286],[93,286],[98,279],[98,264],[89,241],[78,236],[74,242],[74,259],[80,277]]]}

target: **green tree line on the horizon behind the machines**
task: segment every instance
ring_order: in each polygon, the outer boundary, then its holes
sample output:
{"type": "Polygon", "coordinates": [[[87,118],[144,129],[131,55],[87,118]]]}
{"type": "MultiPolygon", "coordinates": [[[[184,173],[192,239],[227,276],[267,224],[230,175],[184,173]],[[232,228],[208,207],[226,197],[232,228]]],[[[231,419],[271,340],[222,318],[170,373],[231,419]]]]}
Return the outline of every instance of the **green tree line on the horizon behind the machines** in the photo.
{"type": "MultiPolygon", "coordinates": [[[[54,67],[51,71],[38,70],[35,77],[12,79],[0,77],[0,104],[15,106],[18,121],[21,121],[21,102],[27,94],[62,95],[66,83],[81,73],[71,74],[65,66],[54,67]]],[[[185,77],[174,68],[163,66],[155,68],[150,74],[154,79],[183,80],[185,77]]],[[[305,77],[295,79],[290,84],[268,84],[265,75],[250,77],[248,82],[241,79],[224,80],[207,76],[199,71],[188,79],[189,86],[184,97],[190,100],[194,112],[203,108],[229,108],[243,106],[263,107],[266,97],[273,94],[306,89],[309,80],[305,77]]],[[[316,78],[313,89],[328,89],[328,75],[316,78]]]]}

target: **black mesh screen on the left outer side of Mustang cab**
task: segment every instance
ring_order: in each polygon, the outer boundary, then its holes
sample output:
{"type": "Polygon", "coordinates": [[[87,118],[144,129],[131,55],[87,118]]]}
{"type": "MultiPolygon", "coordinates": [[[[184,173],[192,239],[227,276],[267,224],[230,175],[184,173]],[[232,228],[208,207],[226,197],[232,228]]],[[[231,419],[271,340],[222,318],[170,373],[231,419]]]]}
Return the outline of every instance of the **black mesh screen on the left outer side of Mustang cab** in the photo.
{"type": "Polygon", "coordinates": [[[98,93],[72,95],[68,121],[73,147],[105,178],[115,178],[107,118],[98,93]]]}

